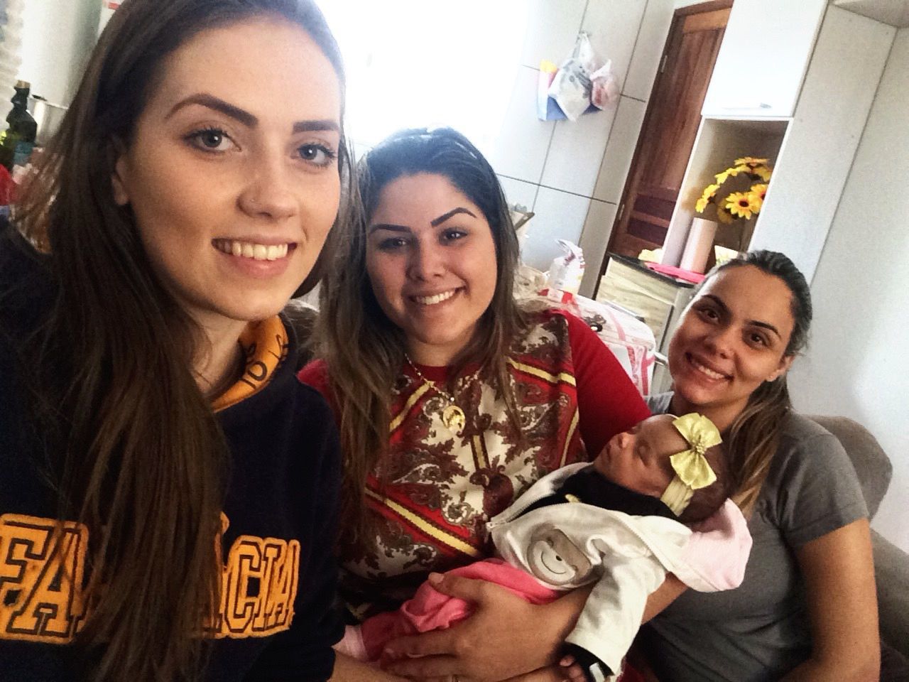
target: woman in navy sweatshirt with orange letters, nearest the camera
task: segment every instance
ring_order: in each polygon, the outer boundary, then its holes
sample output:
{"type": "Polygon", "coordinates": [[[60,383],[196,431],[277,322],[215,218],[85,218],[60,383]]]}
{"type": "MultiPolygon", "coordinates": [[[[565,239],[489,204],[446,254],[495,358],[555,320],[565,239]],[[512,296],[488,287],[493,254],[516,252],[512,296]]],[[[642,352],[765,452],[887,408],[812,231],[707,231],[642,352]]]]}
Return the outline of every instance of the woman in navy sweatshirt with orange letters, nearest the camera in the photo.
{"type": "Polygon", "coordinates": [[[337,439],[279,311],[349,170],[310,0],[125,0],[0,242],[0,679],[325,679],[337,439]]]}

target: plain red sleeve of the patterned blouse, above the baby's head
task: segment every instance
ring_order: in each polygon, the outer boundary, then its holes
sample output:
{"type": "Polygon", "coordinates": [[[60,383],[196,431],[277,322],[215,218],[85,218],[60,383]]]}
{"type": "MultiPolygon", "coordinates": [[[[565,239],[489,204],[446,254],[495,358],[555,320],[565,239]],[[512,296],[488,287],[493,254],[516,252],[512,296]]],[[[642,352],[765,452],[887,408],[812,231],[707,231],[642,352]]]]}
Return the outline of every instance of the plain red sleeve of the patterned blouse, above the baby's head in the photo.
{"type": "Polygon", "coordinates": [[[564,313],[574,360],[579,427],[587,455],[597,456],[615,434],[627,431],[650,416],[612,351],[584,320],[564,313]]]}

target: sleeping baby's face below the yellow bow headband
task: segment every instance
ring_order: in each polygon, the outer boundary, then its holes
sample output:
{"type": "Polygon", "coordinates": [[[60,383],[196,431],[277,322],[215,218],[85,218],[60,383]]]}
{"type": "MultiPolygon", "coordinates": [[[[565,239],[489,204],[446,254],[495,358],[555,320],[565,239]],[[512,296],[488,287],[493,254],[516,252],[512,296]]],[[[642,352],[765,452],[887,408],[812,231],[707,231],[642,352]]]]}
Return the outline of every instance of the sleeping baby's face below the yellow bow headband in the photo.
{"type": "Polygon", "coordinates": [[[672,480],[669,456],[688,443],[673,426],[674,416],[654,415],[609,439],[594,467],[615,484],[659,497],[672,480]]]}

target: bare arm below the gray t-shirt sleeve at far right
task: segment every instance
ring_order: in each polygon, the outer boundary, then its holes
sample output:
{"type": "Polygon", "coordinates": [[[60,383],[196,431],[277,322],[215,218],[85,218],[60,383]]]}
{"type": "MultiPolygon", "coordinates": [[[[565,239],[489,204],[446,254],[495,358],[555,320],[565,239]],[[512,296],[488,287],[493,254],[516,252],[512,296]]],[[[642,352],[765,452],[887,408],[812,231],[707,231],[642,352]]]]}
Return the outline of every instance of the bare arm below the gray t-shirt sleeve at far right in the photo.
{"type": "Polygon", "coordinates": [[[868,520],[860,519],[795,551],[811,617],[812,654],[784,680],[877,680],[881,641],[868,520]]]}

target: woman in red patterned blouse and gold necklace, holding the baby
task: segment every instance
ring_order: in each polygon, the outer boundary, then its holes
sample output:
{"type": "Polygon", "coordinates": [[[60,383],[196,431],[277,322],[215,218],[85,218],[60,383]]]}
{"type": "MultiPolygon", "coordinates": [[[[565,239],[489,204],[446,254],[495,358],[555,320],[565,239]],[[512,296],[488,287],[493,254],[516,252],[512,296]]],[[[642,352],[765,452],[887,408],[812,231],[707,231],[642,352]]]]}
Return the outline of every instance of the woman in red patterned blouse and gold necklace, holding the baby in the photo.
{"type": "MultiPolygon", "coordinates": [[[[486,556],[490,517],[647,410],[581,320],[514,301],[514,228],[492,167],[463,135],[392,135],[358,180],[364,210],[322,290],[320,359],[300,376],[341,426],[341,587],[364,617],[399,606],[431,571],[486,556]]],[[[483,593],[466,595],[474,615],[417,636],[413,653],[430,656],[398,664],[401,674],[498,680],[543,667],[586,597],[533,606],[466,582],[483,593]]],[[[360,665],[339,657],[335,679],[384,675],[360,665]]]]}

